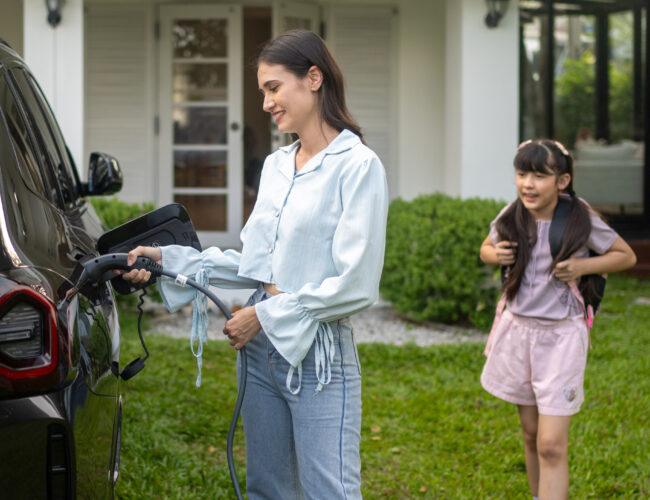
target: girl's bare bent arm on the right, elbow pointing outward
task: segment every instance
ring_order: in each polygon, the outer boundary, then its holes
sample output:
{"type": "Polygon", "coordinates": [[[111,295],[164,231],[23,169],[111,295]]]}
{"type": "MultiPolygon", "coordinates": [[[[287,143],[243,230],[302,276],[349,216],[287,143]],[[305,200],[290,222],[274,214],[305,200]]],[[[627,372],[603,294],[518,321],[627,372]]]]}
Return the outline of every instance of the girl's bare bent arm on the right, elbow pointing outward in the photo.
{"type": "Polygon", "coordinates": [[[623,238],[616,238],[603,255],[586,259],[570,259],[558,262],[555,277],[561,281],[571,281],[586,274],[605,274],[624,271],[636,264],[636,255],[623,238]]]}

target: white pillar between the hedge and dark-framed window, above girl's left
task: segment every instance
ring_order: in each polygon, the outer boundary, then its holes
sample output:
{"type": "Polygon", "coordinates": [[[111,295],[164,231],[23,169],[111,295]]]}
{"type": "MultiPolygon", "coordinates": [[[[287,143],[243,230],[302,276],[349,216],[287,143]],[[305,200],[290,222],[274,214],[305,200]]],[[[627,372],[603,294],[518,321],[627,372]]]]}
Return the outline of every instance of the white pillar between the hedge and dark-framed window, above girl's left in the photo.
{"type": "Polygon", "coordinates": [[[488,28],[483,0],[447,0],[445,191],[514,197],[519,122],[519,19],[509,2],[488,28]]]}

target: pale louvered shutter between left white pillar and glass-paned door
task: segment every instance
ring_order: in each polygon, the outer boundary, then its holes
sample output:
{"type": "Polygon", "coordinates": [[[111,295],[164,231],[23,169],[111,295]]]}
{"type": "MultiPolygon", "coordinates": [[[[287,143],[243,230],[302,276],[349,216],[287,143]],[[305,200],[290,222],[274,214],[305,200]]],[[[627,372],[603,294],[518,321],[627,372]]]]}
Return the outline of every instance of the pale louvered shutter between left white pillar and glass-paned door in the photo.
{"type": "Polygon", "coordinates": [[[115,156],[124,174],[118,197],[154,201],[151,8],[88,3],[85,9],[85,158],[92,151],[115,156]]]}

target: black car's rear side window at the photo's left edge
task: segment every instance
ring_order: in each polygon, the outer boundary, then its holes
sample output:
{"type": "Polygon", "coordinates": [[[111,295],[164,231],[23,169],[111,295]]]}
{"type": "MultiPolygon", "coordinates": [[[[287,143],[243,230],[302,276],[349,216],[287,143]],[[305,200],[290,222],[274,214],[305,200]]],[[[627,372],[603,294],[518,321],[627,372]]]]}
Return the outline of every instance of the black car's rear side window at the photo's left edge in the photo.
{"type": "Polygon", "coordinates": [[[0,78],[0,113],[16,154],[20,175],[33,193],[47,199],[46,182],[34,154],[33,139],[6,83],[3,74],[0,78]]]}

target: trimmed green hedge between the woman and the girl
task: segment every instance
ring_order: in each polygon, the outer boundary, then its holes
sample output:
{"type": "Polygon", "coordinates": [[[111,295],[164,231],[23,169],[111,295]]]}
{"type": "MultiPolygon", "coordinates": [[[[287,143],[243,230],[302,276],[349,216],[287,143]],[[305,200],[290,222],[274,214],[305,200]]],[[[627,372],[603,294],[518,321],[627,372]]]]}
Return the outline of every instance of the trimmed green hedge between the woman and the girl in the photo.
{"type": "Polygon", "coordinates": [[[495,269],[479,259],[479,249],[503,206],[444,194],[394,200],[388,211],[382,297],[414,321],[469,321],[488,330],[499,283],[495,269]]]}

